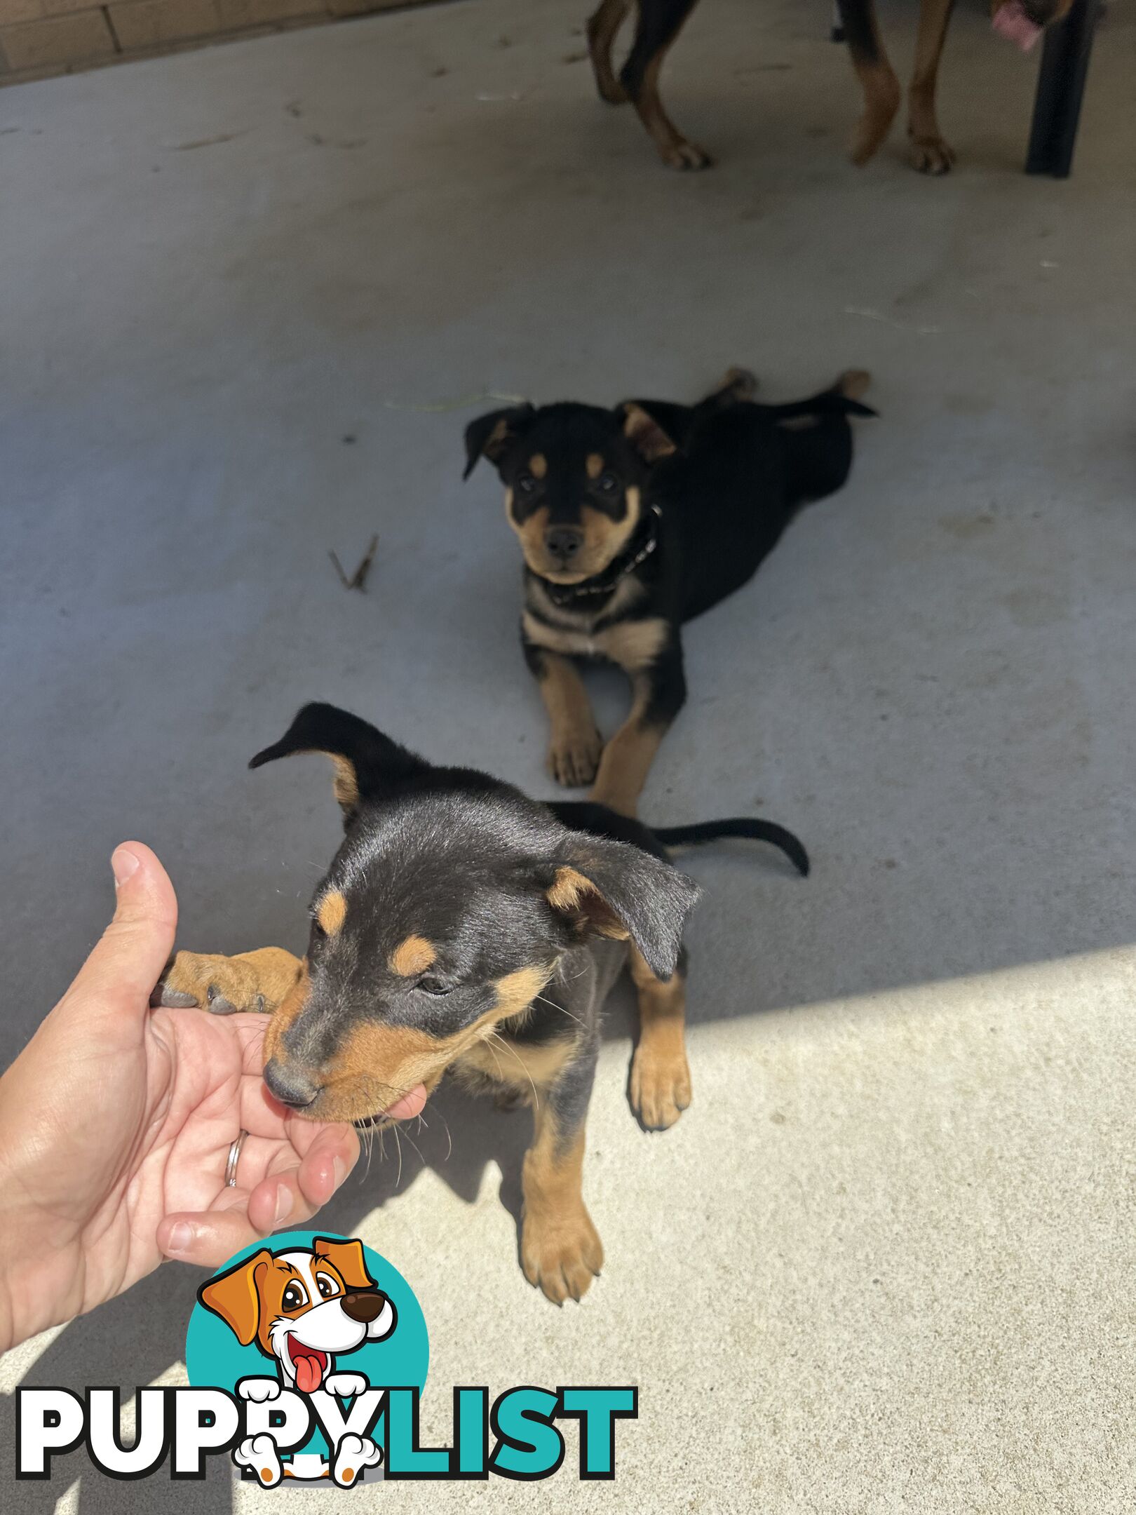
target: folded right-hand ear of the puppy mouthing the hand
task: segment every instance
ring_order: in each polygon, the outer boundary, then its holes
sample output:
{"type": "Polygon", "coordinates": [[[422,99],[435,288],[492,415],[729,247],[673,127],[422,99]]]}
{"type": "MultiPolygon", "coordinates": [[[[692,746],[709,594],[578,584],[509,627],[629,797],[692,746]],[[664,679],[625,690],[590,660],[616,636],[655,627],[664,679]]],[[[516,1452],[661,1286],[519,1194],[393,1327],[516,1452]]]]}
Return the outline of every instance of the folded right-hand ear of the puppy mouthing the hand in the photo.
{"type": "Polygon", "coordinates": [[[683,924],[698,898],[686,874],[629,842],[573,842],[545,885],[551,907],[600,936],[630,938],[659,979],[679,961],[683,924]]]}

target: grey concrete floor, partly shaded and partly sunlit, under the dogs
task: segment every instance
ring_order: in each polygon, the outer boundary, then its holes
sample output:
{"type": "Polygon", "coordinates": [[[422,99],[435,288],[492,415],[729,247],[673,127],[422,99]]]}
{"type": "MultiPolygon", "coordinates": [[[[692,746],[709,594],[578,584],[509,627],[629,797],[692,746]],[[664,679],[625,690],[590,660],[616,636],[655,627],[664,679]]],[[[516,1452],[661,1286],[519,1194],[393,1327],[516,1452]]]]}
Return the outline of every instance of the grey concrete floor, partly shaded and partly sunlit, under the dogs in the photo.
{"type": "MultiPolygon", "coordinates": [[[[618,1006],[603,1279],[562,1312],[527,1288],[526,1117],[454,1094],[326,1221],[420,1294],[426,1436],[451,1383],[641,1386],[615,1483],[403,1485],[403,1510],[1130,1510],[1133,20],[1053,183],[1019,173],[1035,67],[974,11],[942,182],[898,138],[845,164],[824,5],[695,15],[669,100],[721,165],[691,177],[594,100],[582,18],[477,0],[0,94],[3,1051],[101,929],[120,838],[165,859],[185,945],[301,942],[327,776],[244,764],[306,698],[547,792],[517,551],[489,473],[459,482],[485,395],[683,397],[744,362],[791,397],[866,365],[850,486],[688,638],[644,814],[760,811],[815,874],[689,861],[695,1104],[638,1132],[618,1006]],[[376,530],[347,594],[327,550],[376,530]]],[[[906,62],[909,11],[889,35],[906,62]]],[[[197,1282],[162,1270],[3,1386],[176,1382],[197,1282]]],[[[224,1468],[88,1471],[62,1507],[230,1498],[268,1507],[224,1468]]]]}

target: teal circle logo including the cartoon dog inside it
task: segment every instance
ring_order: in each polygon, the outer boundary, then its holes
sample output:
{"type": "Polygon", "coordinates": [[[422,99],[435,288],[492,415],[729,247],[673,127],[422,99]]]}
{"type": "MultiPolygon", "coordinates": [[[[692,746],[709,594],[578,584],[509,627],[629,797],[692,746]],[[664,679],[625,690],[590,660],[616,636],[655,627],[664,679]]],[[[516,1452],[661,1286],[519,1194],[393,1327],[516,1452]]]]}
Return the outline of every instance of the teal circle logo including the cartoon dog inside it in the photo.
{"type": "MultiPolygon", "coordinates": [[[[235,1253],[197,1291],[185,1341],[194,1388],[265,1407],[283,1391],[324,1404],[332,1395],[348,1409],[365,1391],[421,1392],[429,1362],[426,1318],[401,1273],[357,1238],[317,1230],[279,1232],[235,1253]]],[[[335,1450],[312,1424],[274,1482],[329,1468],[335,1450]]]]}

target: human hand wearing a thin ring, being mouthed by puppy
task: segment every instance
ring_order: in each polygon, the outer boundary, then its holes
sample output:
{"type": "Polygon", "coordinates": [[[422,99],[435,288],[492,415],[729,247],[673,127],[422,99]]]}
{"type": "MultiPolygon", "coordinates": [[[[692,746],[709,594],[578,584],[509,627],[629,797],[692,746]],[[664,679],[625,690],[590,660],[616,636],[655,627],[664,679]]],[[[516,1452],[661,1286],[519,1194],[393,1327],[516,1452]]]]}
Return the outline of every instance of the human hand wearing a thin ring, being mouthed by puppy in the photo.
{"type": "Polygon", "coordinates": [[[298,1120],[270,1095],[268,1017],[150,1009],[177,898],[142,842],[112,867],[114,921],[0,1079],[0,1351],[164,1257],[218,1267],[303,1224],[359,1156],[351,1126],[298,1120]]]}

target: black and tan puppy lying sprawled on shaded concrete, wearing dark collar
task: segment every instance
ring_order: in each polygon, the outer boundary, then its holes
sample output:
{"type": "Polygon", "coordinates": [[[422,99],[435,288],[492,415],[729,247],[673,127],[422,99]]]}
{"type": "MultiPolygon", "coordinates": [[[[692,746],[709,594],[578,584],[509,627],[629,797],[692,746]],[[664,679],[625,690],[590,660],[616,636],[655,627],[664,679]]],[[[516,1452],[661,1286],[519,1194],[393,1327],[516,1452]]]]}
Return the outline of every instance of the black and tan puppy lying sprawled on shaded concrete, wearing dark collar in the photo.
{"type": "Polygon", "coordinates": [[[686,698],[682,632],[744,585],[797,508],[839,489],[865,373],[794,405],[754,405],[732,370],[697,406],[629,400],[492,411],[467,427],[467,477],[485,456],[524,551],[521,641],[551,721],[563,785],[635,815],[659,742],[686,698]],[[579,673],[606,659],[632,711],[603,745],[579,673]]]}

